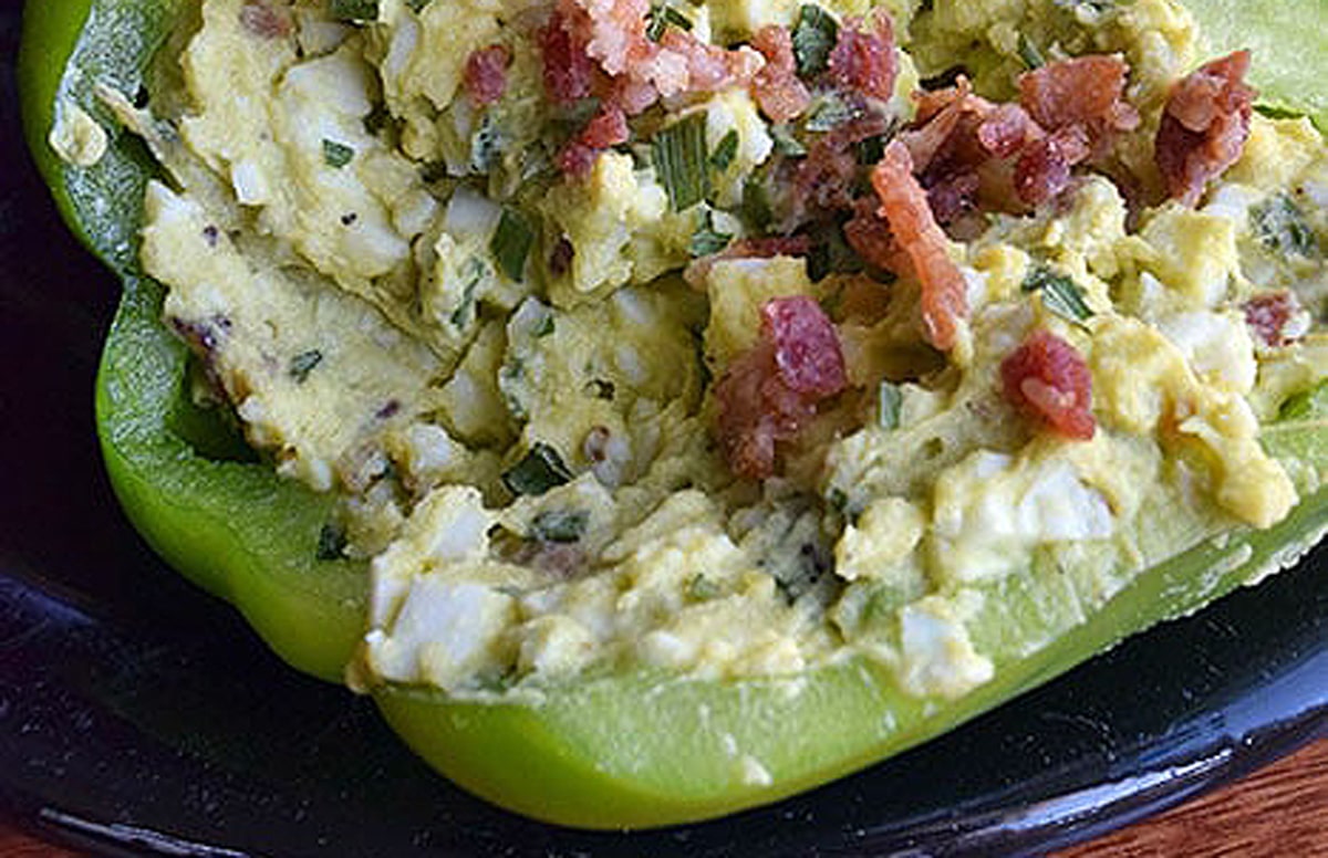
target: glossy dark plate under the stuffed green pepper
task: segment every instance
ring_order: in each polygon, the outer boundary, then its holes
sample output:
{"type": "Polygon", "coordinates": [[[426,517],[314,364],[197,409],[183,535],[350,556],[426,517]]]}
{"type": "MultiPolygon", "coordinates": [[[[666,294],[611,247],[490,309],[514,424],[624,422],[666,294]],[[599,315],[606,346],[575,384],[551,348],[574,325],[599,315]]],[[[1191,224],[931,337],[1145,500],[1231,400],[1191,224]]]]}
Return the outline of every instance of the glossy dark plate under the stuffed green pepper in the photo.
{"type": "MultiPolygon", "coordinates": [[[[41,0],[52,3],[56,0],[41,0]]],[[[861,774],[629,835],[507,814],[283,667],[121,517],[93,436],[117,285],[19,141],[0,0],[0,810],[108,854],[993,854],[1062,846],[1328,727],[1328,552],[861,774]]]]}

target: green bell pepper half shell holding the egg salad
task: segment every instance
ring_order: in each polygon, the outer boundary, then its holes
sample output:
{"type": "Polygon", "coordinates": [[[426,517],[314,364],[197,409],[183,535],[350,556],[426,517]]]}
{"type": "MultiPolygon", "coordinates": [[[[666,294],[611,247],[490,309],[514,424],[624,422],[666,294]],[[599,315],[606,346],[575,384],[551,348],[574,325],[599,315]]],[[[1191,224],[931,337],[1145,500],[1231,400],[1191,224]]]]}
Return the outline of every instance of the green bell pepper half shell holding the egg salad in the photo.
{"type": "MultiPolygon", "coordinates": [[[[29,3],[20,52],[25,126],[69,225],[124,282],[97,378],[97,428],[126,513],[171,566],[230,601],[282,658],[337,680],[363,631],[365,568],[317,560],[328,500],[236,454],[230,430],[190,404],[186,350],[159,324],[162,288],[137,264],[143,186],[155,167],[137,141],[116,130],[92,92],[98,82],[138,92],[187,5],[29,3]],[[110,130],[110,151],[94,167],[66,164],[46,145],[60,99],[76,101],[110,130]]],[[[1268,20],[1292,15],[1283,9],[1296,11],[1297,25],[1287,31],[1295,37],[1313,33],[1321,42],[1319,33],[1328,32],[1328,4],[1317,0],[1190,5],[1214,24],[1219,44],[1232,33],[1262,38],[1268,20]],[[1307,15],[1320,25],[1308,27],[1307,15]]],[[[1275,103],[1307,105],[1316,119],[1328,115],[1328,84],[1312,76],[1311,64],[1291,65],[1300,77],[1256,82],[1272,88],[1275,103]]],[[[1328,467],[1325,400],[1319,395],[1293,423],[1267,427],[1270,450],[1328,467]]],[[[859,658],[793,680],[714,682],[643,670],[497,702],[393,686],[373,694],[392,727],[434,768],[509,809],[600,829],[709,818],[936,736],[1129,634],[1288,565],[1325,529],[1328,488],[1272,529],[1204,540],[1151,568],[1078,625],[1048,610],[1048,593],[1012,587],[1004,597],[1019,622],[983,642],[996,678],[957,700],[910,696],[886,668],[859,658]],[[1024,652],[1048,637],[1049,644],[1024,652]]]]}

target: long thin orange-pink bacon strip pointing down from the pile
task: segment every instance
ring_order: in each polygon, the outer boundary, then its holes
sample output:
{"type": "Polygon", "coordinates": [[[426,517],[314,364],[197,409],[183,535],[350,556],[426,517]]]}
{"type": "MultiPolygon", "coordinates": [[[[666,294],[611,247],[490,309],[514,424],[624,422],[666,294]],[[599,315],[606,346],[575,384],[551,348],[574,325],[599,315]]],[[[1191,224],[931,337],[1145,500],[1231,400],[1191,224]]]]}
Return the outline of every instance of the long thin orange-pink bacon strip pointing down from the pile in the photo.
{"type": "Polygon", "coordinates": [[[912,156],[899,141],[886,146],[871,171],[880,198],[880,216],[912,265],[922,286],[922,318],[927,341],[942,351],[955,345],[959,321],[968,316],[968,285],[947,252],[948,240],[927,204],[927,192],[912,175],[912,156]]]}

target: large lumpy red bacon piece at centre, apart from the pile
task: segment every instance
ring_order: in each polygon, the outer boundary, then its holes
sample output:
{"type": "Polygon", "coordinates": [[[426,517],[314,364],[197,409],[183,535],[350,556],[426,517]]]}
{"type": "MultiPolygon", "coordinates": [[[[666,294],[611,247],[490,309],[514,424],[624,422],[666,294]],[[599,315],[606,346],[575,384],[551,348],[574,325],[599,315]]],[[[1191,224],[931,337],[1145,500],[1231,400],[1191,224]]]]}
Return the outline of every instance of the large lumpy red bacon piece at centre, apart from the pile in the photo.
{"type": "Polygon", "coordinates": [[[839,334],[821,306],[805,296],[768,301],[760,341],[714,387],[729,467],[753,480],[774,473],[776,443],[795,438],[847,383],[839,334]]]}

